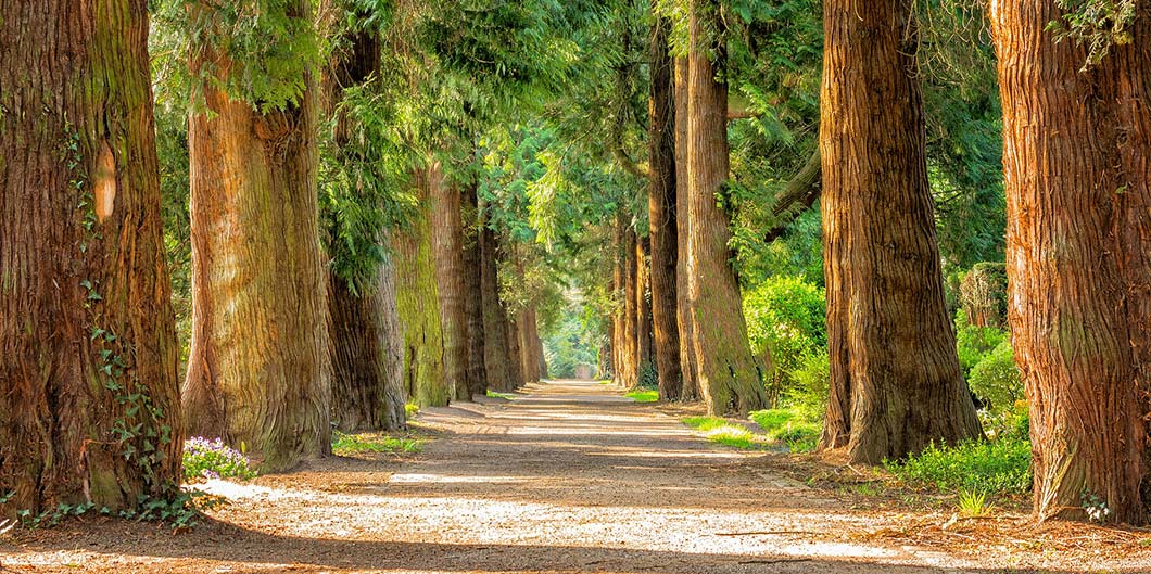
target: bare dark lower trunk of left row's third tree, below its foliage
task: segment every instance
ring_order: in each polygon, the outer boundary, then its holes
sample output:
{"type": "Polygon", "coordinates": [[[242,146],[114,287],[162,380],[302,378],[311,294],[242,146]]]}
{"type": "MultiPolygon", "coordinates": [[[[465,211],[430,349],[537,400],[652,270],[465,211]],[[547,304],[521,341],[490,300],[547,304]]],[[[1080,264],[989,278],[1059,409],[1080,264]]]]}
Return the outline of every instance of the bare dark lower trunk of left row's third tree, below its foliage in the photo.
{"type": "Polygon", "coordinates": [[[376,284],[358,294],[328,274],[328,298],[333,422],[345,433],[404,428],[407,390],[392,262],[380,265],[376,284]]]}

